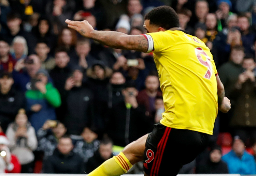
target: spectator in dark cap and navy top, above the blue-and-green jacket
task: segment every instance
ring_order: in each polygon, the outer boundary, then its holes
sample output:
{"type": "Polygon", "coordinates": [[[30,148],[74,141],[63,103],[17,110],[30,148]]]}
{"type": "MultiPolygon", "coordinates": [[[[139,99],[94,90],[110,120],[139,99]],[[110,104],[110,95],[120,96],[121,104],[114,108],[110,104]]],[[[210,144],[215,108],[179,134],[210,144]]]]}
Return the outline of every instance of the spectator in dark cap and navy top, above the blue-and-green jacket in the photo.
{"type": "Polygon", "coordinates": [[[41,62],[37,55],[32,54],[27,59],[20,59],[16,62],[13,70],[14,85],[17,90],[26,92],[31,90],[31,79],[41,68],[41,62]]]}

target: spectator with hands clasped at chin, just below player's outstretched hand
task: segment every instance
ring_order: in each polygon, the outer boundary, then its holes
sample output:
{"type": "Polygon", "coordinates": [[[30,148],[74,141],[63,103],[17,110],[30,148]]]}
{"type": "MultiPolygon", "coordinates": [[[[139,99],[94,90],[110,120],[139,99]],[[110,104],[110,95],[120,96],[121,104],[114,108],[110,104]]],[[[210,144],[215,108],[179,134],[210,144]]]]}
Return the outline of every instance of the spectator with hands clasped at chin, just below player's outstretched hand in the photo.
{"type": "Polygon", "coordinates": [[[79,65],[84,69],[90,68],[93,62],[96,60],[91,54],[91,44],[89,39],[81,38],[77,41],[75,51],[76,55],[71,59],[71,65],[79,65]]]}

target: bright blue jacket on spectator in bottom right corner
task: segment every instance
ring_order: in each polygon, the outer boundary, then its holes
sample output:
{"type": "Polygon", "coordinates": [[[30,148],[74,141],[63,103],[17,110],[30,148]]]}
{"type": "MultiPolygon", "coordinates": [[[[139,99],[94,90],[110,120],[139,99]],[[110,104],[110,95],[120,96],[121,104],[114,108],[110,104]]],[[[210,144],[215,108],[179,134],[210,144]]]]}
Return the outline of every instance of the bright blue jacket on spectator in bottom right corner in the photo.
{"type": "Polygon", "coordinates": [[[256,174],[256,163],[254,157],[244,151],[242,158],[239,158],[233,150],[222,157],[228,165],[229,174],[251,175],[256,174]]]}

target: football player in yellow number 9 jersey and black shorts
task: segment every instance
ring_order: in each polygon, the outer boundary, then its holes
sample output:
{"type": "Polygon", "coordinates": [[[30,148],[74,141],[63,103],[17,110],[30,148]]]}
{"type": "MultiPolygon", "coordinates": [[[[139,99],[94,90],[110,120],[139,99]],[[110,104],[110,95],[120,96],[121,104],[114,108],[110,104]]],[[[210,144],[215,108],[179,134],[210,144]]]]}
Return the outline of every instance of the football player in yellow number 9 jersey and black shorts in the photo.
{"type": "Polygon", "coordinates": [[[209,48],[180,30],[177,14],[169,6],[146,14],[145,35],[97,31],[87,21],[66,22],[104,45],[153,51],[165,105],[162,119],[151,133],[128,144],[88,176],[122,175],[139,161],[144,161],[145,176],[177,175],[207,147],[218,109],[230,109],[209,48]]]}

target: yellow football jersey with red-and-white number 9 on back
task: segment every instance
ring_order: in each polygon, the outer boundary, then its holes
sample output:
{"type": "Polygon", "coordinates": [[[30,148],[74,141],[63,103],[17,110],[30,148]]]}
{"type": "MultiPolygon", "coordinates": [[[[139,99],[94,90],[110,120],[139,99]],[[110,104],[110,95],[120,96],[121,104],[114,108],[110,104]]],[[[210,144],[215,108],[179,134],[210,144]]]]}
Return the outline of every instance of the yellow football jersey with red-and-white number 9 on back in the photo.
{"type": "Polygon", "coordinates": [[[165,112],[161,124],[212,134],[218,113],[216,66],[210,49],[180,30],[145,35],[153,51],[165,112]]]}

